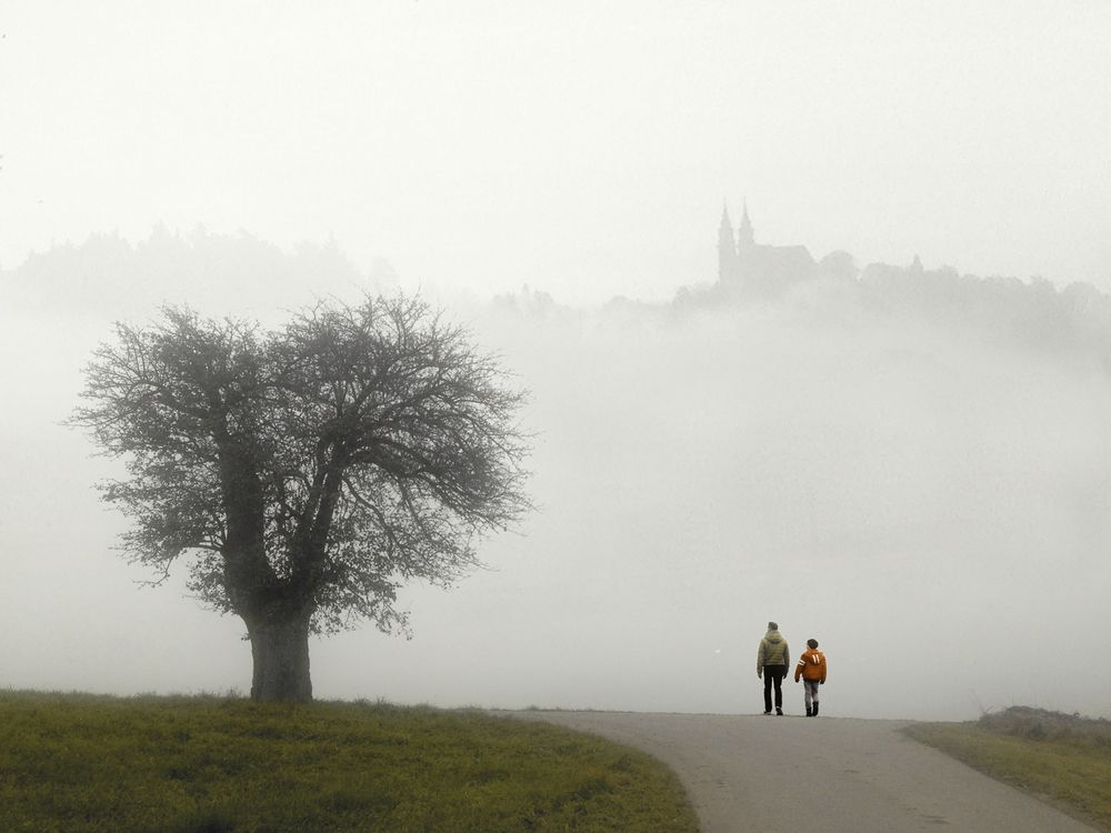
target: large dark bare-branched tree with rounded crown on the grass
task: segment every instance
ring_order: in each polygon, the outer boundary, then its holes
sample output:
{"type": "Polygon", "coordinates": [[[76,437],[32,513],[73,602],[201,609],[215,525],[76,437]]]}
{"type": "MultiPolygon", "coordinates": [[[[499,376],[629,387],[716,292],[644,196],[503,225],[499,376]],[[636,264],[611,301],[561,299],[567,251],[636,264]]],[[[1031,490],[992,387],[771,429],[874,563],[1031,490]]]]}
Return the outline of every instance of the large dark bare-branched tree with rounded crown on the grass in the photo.
{"type": "Polygon", "coordinates": [[[247,624],[251,696],[312,697],[310,633],[371,621],[411,579],[450,584],[478,534],[528,509],[523,393],[462,329],[416,299],[321,303],[284,329],[166,308],[117,324],[73,423],[129,478],[104,500],[132,560],[247,624]]]}

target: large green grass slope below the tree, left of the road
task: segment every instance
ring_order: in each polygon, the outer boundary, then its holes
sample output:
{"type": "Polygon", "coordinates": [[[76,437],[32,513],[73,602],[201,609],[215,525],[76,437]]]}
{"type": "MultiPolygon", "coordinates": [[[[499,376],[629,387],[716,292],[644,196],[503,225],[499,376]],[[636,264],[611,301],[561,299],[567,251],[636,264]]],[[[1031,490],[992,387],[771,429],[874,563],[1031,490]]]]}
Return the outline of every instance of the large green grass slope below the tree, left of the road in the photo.
{"type": "Polygon", "coordinates": [[[0,691],[0,830],[680,833],[698,822],[654,759],[546,723],[0,691]]]}

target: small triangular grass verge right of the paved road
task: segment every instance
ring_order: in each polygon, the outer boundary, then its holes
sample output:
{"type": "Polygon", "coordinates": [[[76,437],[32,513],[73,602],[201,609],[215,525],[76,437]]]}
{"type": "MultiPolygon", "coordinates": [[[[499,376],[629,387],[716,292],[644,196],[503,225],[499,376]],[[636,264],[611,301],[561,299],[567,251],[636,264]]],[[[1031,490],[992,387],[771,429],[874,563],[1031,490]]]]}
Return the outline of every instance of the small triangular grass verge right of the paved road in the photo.
{"type": "Polygon", "coordinates": [[[907,734],[1111,831],[1111,721],[1013,706],[907,734]]]}

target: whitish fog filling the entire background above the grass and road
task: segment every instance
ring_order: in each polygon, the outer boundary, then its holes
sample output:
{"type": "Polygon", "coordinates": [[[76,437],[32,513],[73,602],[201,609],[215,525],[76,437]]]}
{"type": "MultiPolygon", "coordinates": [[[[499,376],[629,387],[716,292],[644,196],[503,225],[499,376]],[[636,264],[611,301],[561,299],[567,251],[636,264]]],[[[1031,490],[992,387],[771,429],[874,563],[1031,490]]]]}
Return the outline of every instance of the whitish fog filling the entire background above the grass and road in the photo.
{"type": "Polygon", "coordinates": [[[250,688],[62,424],[113,321],[402,289],[530,391],[537,510],[317,696],[751,713],[775,620],[823,713],[1111,716],[1111,7],[9,7],[0,685],[250,688]]]}

